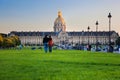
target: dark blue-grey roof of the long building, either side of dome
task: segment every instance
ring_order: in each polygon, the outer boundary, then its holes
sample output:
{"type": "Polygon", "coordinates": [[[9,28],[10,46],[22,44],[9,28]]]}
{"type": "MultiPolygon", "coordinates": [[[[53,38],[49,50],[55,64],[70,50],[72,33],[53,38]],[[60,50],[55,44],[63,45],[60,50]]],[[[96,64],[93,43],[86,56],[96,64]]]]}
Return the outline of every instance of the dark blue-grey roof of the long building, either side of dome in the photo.
{"type": "MultiPolygon", "coordinates": [[[[99,31],[99,32],[95,32],[95,31],[91,31],[91,32],[84,32],[84,31],[80,31],[80,32],[66,32],[68,33],[68,36],[109,36],[109,31],[99,31]]],[[[112,35],[113,33],[115,33],[116,35],[118,35],[118,33],[116,33],[115,31],[111,31],[110,35],[112,35]]],[[[56,36],[58,33],[56,32],[16,32],[16,31],[12,31],[10,34],[15,34],[17,36],[44,36],[44,35],[51,35],[51,36],[56,36]]],[[[118,35],[119,36],[119,35],[118,35]]]]}

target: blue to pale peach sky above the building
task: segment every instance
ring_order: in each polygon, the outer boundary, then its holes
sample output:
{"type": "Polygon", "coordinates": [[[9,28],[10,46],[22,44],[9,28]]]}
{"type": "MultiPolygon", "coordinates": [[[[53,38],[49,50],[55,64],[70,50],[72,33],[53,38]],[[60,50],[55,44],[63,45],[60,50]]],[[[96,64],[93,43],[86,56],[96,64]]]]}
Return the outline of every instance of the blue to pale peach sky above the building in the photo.
{"type": "Polygon", "coordinates": [[[111,30],[120,34],[120,0],[0,0],[0,33],[11,31],[53,31],[58,11],[67,31],[111,30]]]}

